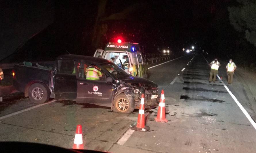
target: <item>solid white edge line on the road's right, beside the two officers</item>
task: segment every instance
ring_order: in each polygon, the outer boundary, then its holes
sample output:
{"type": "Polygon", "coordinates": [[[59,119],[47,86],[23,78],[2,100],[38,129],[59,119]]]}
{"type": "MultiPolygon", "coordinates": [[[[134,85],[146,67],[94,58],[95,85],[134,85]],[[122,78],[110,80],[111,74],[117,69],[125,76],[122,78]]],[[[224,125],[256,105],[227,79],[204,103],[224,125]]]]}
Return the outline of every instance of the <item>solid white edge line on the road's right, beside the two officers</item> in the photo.
{"type": "MultiPolygon", "coordinates": [[[[205,57],[204,57],[205,58],[205,57]]],[[[207,59],[205,58],[205,60],[207,61],[207,59]]],[[[207,61],[207,63],[209,63],[207,61]]],[[[221,80],[221,78],[219,77],[219,75],[217,74],[217,77],[219,78],[219,80],[221,81],[222,85],[226,88],[226,90],[228,91],[228,93],[230,94],[230,96],[234,99],[234,101],[236,102],[236,104],[238,105],[238,107],[241,109],[241,111],[244,113],[244,115],[246,116],[246,118],[249,120],[249,122],[253,125],[254,129],[256,130],[256,123],[255,121],[253,121],[253,119],[251,118],[251,116],[249,115],[249,113],[244,109],[244,107],[242,106],[242,104],[237,100],[236,96],[230,91],[230,89],[226,86],[226,84],[221,80]]]]}

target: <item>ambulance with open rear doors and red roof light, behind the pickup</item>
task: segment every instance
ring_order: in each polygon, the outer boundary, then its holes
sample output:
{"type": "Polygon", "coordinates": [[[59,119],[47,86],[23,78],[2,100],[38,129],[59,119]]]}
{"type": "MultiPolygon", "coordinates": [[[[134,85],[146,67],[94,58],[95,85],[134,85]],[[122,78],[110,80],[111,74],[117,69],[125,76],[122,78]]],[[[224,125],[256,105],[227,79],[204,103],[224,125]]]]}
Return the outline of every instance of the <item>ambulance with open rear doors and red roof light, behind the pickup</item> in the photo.
{"type": "Polygon", "coordinates": [[[97,49],[94,57],[107,59],[133,76],[148,79],[148,64],[138,43],[109,42],[105,49],[97,49]]]}

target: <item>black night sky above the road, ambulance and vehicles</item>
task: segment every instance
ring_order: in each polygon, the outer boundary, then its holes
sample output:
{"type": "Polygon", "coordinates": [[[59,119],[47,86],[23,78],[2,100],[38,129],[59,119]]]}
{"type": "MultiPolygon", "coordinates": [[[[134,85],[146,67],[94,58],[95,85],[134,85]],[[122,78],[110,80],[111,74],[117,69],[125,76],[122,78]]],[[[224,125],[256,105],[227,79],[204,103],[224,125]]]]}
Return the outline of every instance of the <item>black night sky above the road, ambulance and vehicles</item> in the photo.
{"type": "Polygon", "coordinates": [[[167,47],[179,53],[195,45],[213,58],[229,58],[243,49],[228,18],[236,3],[231,0],[1,3],[0,59],[14,52],[6,62],[51,60],[66,50],[91,56],[117,37],[139,42],[148,53],[167,47]]]}

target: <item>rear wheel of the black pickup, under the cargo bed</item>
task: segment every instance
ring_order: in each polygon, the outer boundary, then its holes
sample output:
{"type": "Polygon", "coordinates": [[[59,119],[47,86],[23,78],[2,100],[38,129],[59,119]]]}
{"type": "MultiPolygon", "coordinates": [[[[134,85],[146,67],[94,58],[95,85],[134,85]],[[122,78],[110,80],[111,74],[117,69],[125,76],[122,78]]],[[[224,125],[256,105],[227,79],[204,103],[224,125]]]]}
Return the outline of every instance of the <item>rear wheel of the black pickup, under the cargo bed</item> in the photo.
{"type": "Polygon", "coordinates": [[[35,83],[29,87],[28,97],[32,102],[36,104],[43,104],[49,100],[50,92],[47,87],[45,87],[45,85],[41,83],[35,83]]]}

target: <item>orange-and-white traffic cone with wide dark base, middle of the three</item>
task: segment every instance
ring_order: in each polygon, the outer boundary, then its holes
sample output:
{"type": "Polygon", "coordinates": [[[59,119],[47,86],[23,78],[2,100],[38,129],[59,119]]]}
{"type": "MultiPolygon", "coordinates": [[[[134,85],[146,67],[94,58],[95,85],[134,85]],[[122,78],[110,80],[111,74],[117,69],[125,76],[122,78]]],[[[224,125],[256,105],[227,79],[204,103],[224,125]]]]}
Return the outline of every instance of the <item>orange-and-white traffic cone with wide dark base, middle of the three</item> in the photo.
{"type": "Polygon", "coordinates": [[[145,98],[144,94],[142,94],[137,124],[136,124],[136,126],[133,125],[133,127],[131,127],[131,129],[136,130],[136,131],[146,131],[146,130],[150,129],[150,127],[145,125],[144,98],[145,98]]]}

